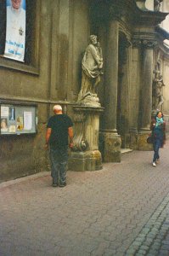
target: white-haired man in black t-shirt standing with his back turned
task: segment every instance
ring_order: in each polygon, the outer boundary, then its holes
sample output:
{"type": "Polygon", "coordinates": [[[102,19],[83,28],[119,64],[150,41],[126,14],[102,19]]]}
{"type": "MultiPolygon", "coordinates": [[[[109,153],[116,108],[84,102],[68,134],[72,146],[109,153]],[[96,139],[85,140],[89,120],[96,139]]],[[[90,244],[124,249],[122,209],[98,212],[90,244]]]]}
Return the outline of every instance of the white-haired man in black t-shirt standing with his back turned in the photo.
{"type": "Polygon", "coordinates": [[[62,113],[60,105],[55,105],[53,110],[54,116],[48,119],[46,148],[49,143],[53,186],[65,187],[68,144],[70,148],[73,147],[73,123],[68,115],[62,113]]]}

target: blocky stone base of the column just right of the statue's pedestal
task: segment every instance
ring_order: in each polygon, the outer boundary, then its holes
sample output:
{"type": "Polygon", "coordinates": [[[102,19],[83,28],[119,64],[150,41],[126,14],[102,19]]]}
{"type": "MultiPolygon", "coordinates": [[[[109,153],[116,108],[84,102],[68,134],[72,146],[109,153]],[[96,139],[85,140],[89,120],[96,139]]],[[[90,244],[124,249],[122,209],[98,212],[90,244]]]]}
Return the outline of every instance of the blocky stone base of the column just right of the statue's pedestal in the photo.
{"type": "Polygon", "coordinates": [[[104,162],[121,161],[121,137],[113,132],[100,132],[99,150],[104,162]]]}

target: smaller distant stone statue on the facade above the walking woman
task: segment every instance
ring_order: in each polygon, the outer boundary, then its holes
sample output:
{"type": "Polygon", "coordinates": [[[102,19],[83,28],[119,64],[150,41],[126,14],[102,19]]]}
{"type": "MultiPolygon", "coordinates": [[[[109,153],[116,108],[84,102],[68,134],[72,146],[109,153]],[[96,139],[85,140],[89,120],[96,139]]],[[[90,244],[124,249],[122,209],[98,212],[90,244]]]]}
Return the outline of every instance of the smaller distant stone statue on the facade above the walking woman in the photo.
{"type": "Polygon", "coordinates": [[[162,87],[165,86],[160,71],[155,68],[155,79],[153,80],[153,96],[155,96],[154,108],[161,110],[161,106],[164,103],[164,97],[162,95],[162,87]]]}

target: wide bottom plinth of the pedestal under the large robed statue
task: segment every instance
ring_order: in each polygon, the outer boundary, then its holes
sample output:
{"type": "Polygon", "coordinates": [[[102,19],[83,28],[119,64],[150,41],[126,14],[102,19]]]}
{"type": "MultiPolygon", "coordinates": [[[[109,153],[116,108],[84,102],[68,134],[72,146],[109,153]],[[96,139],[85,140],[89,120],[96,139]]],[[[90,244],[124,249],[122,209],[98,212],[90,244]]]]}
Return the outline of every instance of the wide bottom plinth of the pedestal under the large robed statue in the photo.
{"type": "Polygon", "coordinates": [[[71,152],[70,154],[68,161],[68,170],[70,171],[97,171],[102,168],[102,157],[99,150],[71,152]]]}

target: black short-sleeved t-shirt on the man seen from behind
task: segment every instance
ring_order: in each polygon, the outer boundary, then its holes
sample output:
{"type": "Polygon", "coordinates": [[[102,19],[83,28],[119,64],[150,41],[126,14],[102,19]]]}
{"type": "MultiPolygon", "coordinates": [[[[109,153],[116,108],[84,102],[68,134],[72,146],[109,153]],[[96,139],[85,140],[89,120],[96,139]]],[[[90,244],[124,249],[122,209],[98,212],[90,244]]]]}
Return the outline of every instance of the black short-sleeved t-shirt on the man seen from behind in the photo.
{"type": "Polygon", "coordinates": [[[72,127],[73,123],[68,115],[54,114],[48,119],[47,128],[51,128],[51,136],[49,144],[51,148],[61,148],[68,145],[68,128],[72,127]]]}

